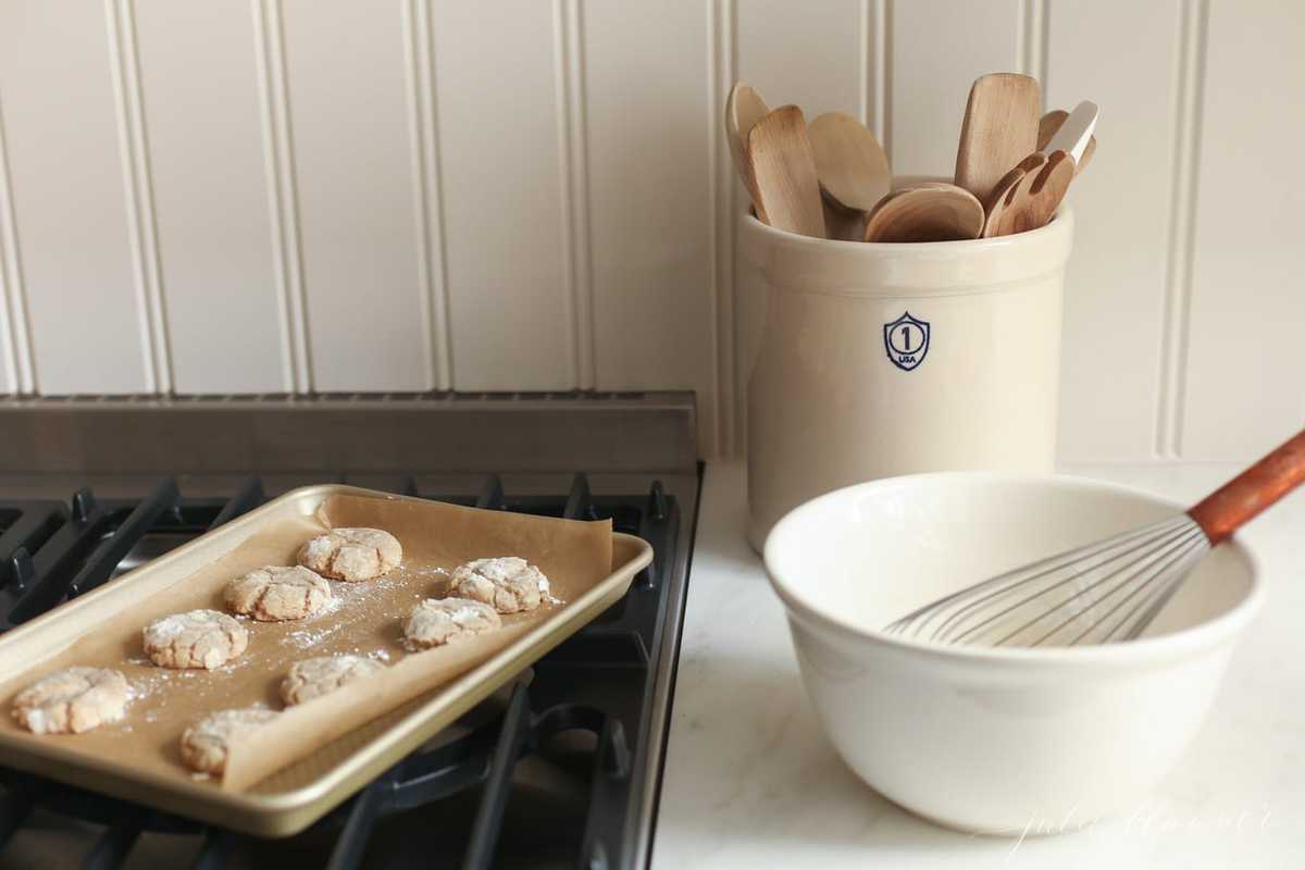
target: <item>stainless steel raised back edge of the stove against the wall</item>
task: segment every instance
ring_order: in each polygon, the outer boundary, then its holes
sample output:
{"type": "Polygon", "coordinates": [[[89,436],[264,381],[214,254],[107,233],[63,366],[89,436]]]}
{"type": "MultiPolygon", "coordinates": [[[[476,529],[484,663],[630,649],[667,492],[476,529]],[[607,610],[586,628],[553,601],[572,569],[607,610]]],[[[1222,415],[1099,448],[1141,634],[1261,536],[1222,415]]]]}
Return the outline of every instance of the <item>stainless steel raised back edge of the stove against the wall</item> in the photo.
{"type": "Polygon", "coordinates": [[[696,428],[688,391],[9,398],[0,473],[693,473],[696,428]]]}

